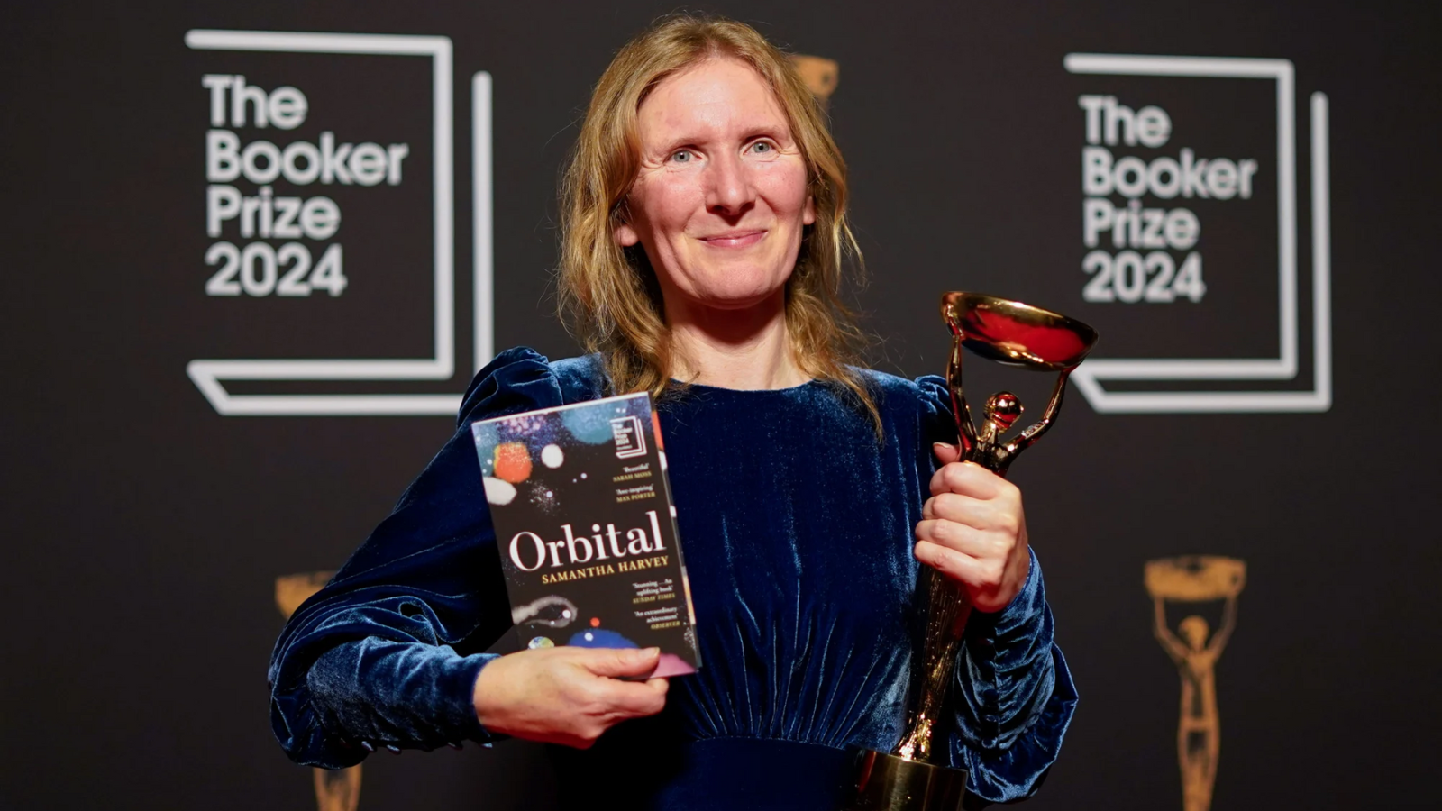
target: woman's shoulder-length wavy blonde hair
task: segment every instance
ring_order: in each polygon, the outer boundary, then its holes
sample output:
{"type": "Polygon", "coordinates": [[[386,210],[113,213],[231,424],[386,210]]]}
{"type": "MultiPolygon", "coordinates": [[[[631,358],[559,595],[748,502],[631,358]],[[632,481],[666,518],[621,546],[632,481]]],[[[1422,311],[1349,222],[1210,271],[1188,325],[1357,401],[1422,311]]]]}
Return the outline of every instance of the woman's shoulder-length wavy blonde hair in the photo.
{"type": "Polygon", "coordinates": [[[616,228],[640,169],[636,113],[666,76],[715,58],[750,65],[776,94],[808,167],[816,222],[806,227],[786,281],[786,329],[795,362],[849,390],[880,429],[875,403],[849,364],[865,336],[841,300],[844,260],[861,250],[846,224],[846,163],[816,98],[790,58],[746,23],[669,16],[626,43],[591,94],[561,188],[561,315],[588,352],[600,352],[613,391],[671,387],[673,346],[656,271],[616,228]]]}

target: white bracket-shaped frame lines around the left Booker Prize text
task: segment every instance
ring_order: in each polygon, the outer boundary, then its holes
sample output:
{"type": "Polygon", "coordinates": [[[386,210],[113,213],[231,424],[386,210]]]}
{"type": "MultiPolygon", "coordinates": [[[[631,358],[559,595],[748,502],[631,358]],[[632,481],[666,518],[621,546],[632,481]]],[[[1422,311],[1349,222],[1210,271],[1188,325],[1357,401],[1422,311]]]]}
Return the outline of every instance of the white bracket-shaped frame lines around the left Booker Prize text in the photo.
{"type": "MultiPolygon", "coordinates": [[[[231,394],[221,381],[438,381],[456,374],[451,40],[446,36],[189,30],[196,51],[430,56],[434,156],[435,352],[424,359],[196,359],[186,374],[222,416],[454,414],[456,394],[231,394]]],[[[490,75],[472,81],[474,176],[476,367],[492,349],[490,75]]]]}

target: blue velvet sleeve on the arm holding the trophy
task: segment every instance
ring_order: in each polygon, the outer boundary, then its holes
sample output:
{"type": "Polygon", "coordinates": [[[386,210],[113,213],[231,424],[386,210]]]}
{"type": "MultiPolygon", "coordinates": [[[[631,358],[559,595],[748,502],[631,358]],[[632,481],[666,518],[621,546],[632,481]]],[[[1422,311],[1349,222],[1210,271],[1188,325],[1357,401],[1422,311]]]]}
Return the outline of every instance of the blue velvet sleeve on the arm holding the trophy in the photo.
{"type": "MultiPolygon", "coordinates": [[[[917,385],[923,436],[955,443],[946,381],[930,375],[917,385]]],[[[995,613],[972,612],[959,657],[952,683],[952,765],[970,772],[966,789],[975,797],[989,802],[1031,797],[1056,762],[1077,704],[1071,672],[1053,641],[1051,608],[1034,550],[1027,583],[1011,603],[995,613]]]]}

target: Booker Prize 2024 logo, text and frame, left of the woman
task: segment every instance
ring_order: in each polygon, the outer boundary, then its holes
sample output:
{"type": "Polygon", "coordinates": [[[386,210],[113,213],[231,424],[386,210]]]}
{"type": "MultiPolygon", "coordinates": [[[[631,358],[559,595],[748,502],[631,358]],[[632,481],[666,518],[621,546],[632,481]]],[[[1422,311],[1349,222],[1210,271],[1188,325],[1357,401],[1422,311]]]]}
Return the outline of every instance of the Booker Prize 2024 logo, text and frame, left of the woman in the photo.
{"type": "MultiPolygon", "coordinates": [[[[208,53],[195,88],[208,240],[198,293],[216,322],[213,355],[190,361],[190,380],[226,416],[454,414],[454,393],[414,391],[456,388],[450,39],[185,40],[208,53]]],[[[479,367],[492,352],[487,74],[472,82],[472,144],[479,367]]]]}

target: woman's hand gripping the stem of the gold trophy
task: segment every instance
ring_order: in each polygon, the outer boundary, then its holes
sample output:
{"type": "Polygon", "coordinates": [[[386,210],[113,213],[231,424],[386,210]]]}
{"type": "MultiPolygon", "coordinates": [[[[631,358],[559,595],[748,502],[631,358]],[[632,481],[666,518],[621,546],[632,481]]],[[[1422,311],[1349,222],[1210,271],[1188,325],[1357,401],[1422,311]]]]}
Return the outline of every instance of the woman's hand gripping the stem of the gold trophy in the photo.
{"type": "Polygon", "coordinates": [[[975,462],[957,462],[955,444],[932,450],[942,468],[916,525],[916,558],[965,586],[978,610],[1001,610],[1031,571],[1021,491],[975,462]]]}

